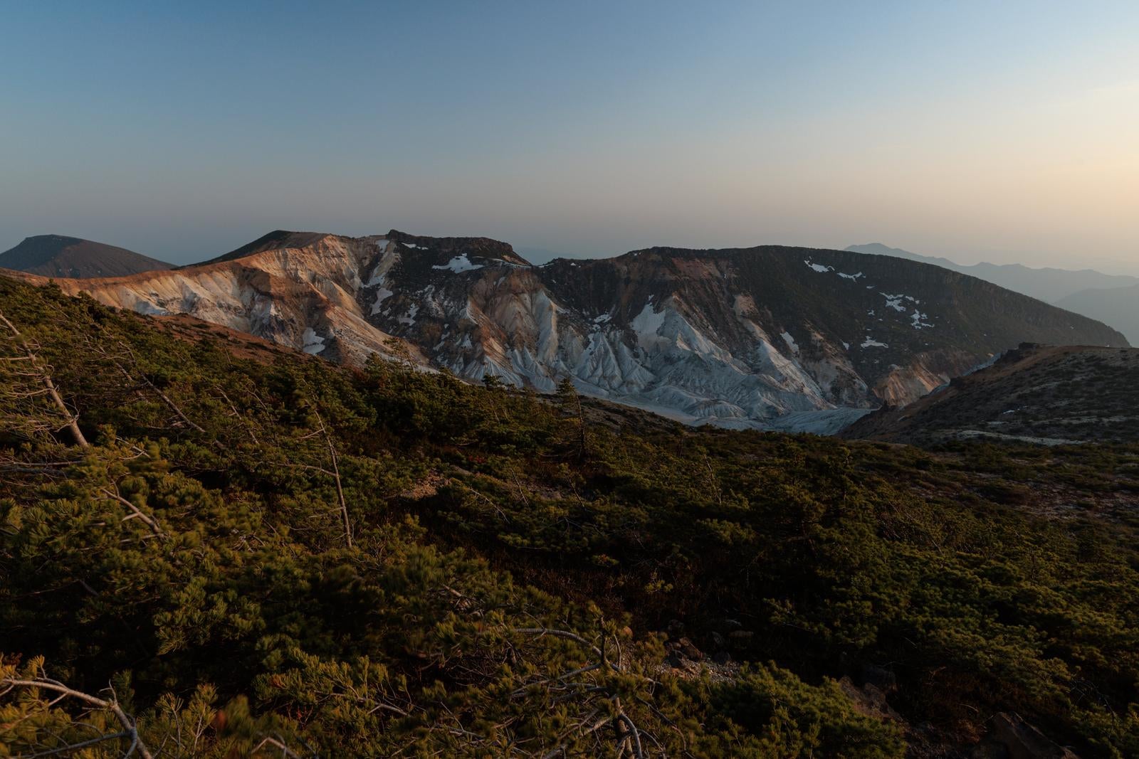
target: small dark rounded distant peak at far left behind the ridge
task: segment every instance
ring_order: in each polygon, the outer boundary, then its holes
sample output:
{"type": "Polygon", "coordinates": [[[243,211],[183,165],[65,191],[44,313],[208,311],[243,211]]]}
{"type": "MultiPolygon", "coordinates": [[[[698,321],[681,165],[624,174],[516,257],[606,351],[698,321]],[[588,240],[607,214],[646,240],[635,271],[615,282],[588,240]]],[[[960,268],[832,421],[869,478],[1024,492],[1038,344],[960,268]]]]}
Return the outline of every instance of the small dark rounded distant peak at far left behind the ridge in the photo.
{"type": "Polygon", "coordinates": [[[62,234],[38,234],[0,253],[0,267],[41,277],[87,279],[124,277],[172,266],[113,245],[62,234]]]}

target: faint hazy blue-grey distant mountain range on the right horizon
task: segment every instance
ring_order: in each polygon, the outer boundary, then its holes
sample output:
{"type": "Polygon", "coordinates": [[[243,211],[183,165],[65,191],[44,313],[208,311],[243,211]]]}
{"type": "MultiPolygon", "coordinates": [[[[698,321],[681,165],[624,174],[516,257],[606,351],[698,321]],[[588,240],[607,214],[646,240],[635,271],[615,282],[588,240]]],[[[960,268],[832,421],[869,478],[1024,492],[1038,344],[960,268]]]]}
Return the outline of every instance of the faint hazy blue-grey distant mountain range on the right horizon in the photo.
{"type": "Polygon", "coordinates": [[[936,266],[942,266],[944,269],[950,269],[962,274],[968,274],[970,277],[976,277],[977,279],[983,279],[986,282],[992,282],[999,284],[1003,288],[1008,288],[1014,292],[1023,292],[1024,295],[1032,296],[1033,298],[1039,298],[1044,303],[1055,303],[1058,306],[1068,308],[1068,311],[1075,311],[1077,314],[1083,314],[1084,316],[1090,316],[1092,319],[1098,319],[1100,321],[1106,321],[1113,327],[1121,327],[1120,324],[1113,324],[1109,320],[1105,320],[1101,316],[1092,313],[1080,311],[1079,308],[1071,308],[1059,303],[1063,298],[1080,292],[1089,288],[1097,289],[1109,289],[1109,288],[1123,288],[1123,287],[1134,287],[1139,286],[1139,277],[1129,277],[1126,274],[1105,274],[1103,272],[1097,272],[1092,269],[1082,269],[1080,271],[1072,271],[1067,269],[1033,269],[1030,266],[1024,266],[1021,264],[970,264],[964,265],[954,263],[948,258],[923,256],[917,253],[910,253],[909,250],[903,250],[901,248],[891,248],[880,242],[871,242],[869,245],[852,245],[846,248],[847,250],[854,250],[857,253],[869,253],[880,256],[896,256],[899,258],[906,258],[909,261],[919,261],[927,264],[934,264],[936,266]]]}

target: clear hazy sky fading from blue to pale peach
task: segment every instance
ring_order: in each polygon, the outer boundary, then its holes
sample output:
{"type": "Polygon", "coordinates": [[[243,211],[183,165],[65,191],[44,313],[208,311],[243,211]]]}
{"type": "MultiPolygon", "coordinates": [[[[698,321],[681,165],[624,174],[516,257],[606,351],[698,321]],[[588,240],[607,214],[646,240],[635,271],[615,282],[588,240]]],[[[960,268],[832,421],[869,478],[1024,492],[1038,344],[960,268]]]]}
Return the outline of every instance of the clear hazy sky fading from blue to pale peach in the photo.
{"type": "Polygon", "coordinates": [[[880,241],[1139,272],[1139,2],[3,2],[0,250],[880,241]]]}

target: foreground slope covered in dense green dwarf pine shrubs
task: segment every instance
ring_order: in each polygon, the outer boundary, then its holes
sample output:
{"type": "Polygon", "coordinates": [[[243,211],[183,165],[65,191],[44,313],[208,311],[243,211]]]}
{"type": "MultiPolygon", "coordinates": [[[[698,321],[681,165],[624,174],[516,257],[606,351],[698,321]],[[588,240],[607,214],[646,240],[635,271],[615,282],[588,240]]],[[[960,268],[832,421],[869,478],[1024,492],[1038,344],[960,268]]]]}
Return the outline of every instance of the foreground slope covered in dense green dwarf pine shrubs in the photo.
{"type": "Polygon", "coordinates": [[[13,753],[1139,753],[1133,445],[641,424],[54,287],[0,313],[13,753]]]}

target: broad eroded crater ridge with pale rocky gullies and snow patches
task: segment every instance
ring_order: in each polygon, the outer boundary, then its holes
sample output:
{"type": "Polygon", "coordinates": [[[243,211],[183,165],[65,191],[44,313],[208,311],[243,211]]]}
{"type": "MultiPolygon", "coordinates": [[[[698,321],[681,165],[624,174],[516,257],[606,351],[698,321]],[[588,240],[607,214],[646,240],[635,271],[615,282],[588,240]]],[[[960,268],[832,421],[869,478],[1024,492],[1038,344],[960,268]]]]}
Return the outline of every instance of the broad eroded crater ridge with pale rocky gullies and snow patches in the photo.
{"type": "Polygon", "coordinates": [[[935,266],[837,250],[654,248],[531,266],[505,242],[272,232],[212,263],[62,283],[344,363],[405,355],[687,422],[833,431],[1022,340],[1125,345],[935,266]]]}

